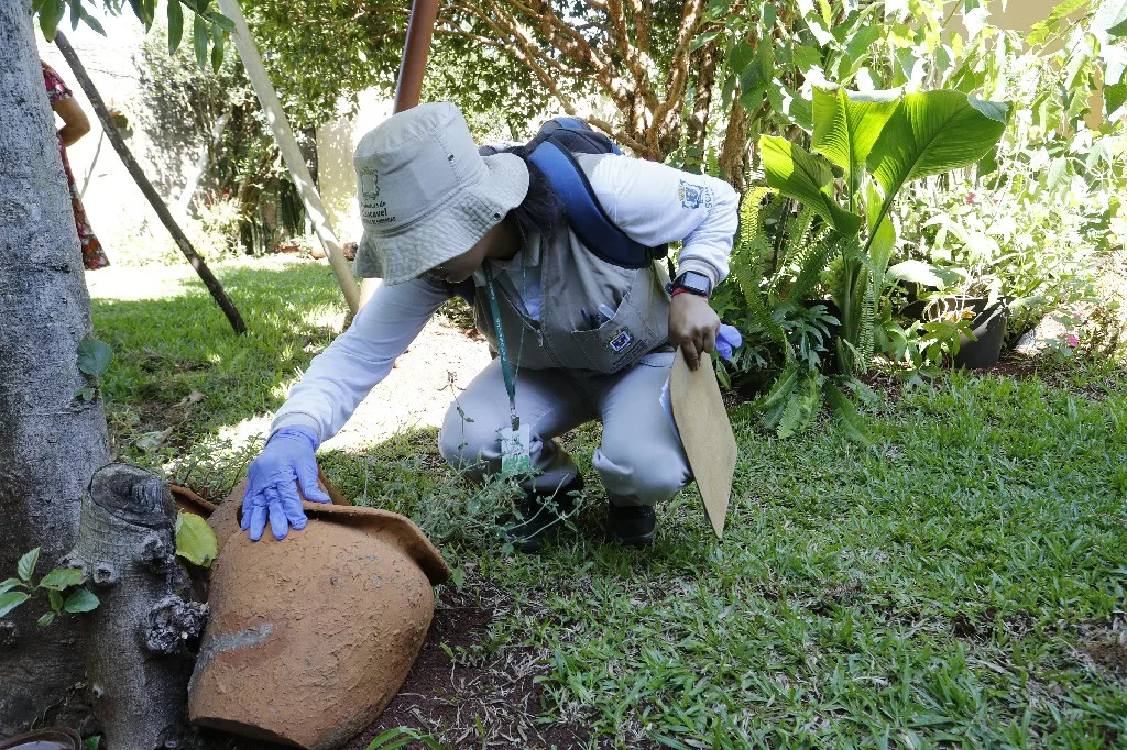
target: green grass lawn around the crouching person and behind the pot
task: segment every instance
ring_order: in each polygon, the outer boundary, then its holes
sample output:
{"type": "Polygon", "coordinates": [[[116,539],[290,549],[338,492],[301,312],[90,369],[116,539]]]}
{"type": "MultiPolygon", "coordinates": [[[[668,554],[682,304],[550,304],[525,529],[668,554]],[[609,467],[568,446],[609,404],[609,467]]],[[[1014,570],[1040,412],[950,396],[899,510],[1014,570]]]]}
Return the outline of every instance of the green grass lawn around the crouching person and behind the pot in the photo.
{"type": "MultiPolygon", "coordinates": [[[[183,275],[113,273],[90,278],[118,448],[229,485],[256,445],[232,429],[331,340],[330,270],[218,269],[243,338],[183,275]]],[[[459,571],[427,663],[504,696],[446,686],[389,714],[460,748],[1127,747],[1127,370],[951,375],[867,418],[871,449],[774,439],[737,407],[724,542],[690,490],[647,552],[600,541],[596,481],[559,544],[514,556],[503,493],[460,482],[432,430],[322,452],[346,497],[411,516],[459,571]],[[525,739],[498,739],[514,721],[525,739]]],[[[586,470],[597,438],[568,436],[586,470]]]]}

